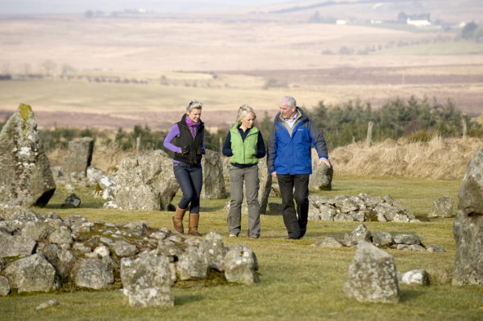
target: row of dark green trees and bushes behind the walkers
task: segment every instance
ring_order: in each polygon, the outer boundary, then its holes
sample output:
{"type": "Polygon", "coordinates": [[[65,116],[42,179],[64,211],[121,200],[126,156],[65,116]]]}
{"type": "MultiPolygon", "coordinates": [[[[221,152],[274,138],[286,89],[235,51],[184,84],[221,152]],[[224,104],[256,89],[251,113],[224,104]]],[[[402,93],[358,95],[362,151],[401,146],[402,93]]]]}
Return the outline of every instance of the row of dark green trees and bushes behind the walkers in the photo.
{"type": "MultiPolygon", "coordinates": [[[[378,109],[373,109],[371,103],[362,103],[361,100],[348,100],[341,105],[320,101],[312,110],[304,108],[304,111],[325,135],[329,149],[364,141],[370,121],[373,122],[374,142],[388,138],[397,140],[399,137],[406,137],[408,141],[427,141],[435,135],[459,137],[463,130],[463,113],[449,99],[442,104],[436,99],[397,98],[387,101],[378,109]]],[[[265,112],[263,117],[260,116],[259,114],[255,126],[260,129],[264,139],[268,140],[275,115],[265,112]]],[[[3,124],[0,123],[0,130],[3,124]]],[[[229,128],[219,128],[216,132],[207,131],[205,146],[219,151],[228,130],[229,128]]],[[[469,136],[483,137],[483,128],[475,121],[469,121],[467,130],[469,136]]],[[[131,131],[119,128],[116,133],[91,128],[41,129],[39,133],[47,152],[57,148],[66,149],[70,140],[86,136],[122,150],[165,150],[163,140],[168,135],[166,130],[151,130],[147,125],[136,125],[131,131]]]]}

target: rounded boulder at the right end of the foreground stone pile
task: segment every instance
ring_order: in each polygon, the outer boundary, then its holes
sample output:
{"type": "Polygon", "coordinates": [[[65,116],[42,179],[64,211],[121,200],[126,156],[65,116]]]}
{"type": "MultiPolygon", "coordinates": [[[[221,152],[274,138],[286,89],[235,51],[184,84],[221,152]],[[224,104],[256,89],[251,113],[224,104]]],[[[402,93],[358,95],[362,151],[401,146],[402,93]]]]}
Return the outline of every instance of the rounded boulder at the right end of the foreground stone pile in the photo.
{"type": "Polygon", "coordinates": [[[252,285],[260,282],[255,253],[244,245],[235,245],[225,255],[225,278],[228,282],[252,285]]]}

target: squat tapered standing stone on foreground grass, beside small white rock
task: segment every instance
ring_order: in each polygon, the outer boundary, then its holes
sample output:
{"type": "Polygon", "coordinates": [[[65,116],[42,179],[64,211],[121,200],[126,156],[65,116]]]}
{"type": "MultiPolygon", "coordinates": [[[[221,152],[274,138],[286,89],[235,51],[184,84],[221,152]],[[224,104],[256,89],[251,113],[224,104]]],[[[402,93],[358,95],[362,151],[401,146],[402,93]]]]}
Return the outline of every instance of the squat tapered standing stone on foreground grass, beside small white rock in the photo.
{"type": "Polygon", "coordinates": [[[343,290],[347,297],[359,302],[398,303],[394,257],[366,241],[359,241],[343,290]]]}

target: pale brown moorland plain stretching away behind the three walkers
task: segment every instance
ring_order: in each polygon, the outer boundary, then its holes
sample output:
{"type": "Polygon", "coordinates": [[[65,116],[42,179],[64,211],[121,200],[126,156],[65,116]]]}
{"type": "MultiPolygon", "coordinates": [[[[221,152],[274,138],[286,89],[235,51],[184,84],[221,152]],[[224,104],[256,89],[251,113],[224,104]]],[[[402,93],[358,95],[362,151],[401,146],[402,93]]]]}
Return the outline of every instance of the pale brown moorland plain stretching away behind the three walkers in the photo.
{"type": "Polygon", "coordinates": [[[274,114],[285,94],[306,108],[415,96],[482,113],[483,46],[457,33],[267,12],[0,17],[1,73],[14,75],[0,82],[0,119],[28,103],[40,127],[168,129],[196,98],[219,128],[242,103],[274,114]]]}

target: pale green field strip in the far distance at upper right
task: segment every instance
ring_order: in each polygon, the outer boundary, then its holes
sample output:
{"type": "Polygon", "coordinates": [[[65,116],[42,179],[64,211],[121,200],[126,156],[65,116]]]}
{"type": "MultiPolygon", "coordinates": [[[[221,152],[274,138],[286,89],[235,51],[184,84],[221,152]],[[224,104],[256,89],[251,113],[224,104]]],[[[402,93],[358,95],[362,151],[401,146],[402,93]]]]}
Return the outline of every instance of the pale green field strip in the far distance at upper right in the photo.
{"type": "Polygon", "coordinates": [[[408,45],[380,50],[371,54],[379,55],[451,55],[451,54],[483,54],[483,43],[472,41],[451,41],[447,43],[428,43],[408,45]]]}

